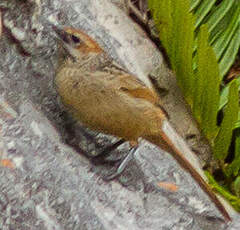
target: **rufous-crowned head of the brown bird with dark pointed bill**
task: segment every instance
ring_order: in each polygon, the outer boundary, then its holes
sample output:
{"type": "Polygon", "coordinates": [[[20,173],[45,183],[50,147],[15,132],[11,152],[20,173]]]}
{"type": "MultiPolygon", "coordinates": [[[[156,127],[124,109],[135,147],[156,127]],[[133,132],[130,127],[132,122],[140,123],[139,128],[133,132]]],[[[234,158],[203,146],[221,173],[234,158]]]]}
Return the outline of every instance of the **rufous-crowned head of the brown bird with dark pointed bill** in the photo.
{"type": "Polygon", "coordinates": [[[60,29],[53,25],[52,28],[61,40],[63,47],[74,58],[79,58],[89,53],[99,54],[103,51],[96,41],[81,30],[70,27],[60,29]]]}

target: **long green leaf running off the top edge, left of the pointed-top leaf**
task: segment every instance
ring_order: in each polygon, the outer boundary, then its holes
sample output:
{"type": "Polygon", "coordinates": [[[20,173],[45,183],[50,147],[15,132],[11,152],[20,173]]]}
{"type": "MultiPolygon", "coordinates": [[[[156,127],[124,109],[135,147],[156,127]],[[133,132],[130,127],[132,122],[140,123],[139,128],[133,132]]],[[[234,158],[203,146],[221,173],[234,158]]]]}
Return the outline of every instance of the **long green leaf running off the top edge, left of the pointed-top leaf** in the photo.
{"type": "Polygon", "coordinates": [[[173,1],[172,56],[179,86],[186,100],[192,104],[194,17],[189,12],[189,0],[173,1]]]}

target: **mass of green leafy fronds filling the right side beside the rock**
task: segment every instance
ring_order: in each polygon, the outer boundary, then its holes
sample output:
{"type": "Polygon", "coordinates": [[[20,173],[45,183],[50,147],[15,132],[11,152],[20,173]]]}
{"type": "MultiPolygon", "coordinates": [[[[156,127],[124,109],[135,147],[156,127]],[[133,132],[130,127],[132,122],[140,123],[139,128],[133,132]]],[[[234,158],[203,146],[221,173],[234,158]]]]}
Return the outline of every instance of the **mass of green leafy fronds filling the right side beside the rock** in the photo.
{"type": "Polygon", "coordinates": [[[239,0],[148,0],[178,84],[222,178],[210,184],[240,210],[239,0]]]}

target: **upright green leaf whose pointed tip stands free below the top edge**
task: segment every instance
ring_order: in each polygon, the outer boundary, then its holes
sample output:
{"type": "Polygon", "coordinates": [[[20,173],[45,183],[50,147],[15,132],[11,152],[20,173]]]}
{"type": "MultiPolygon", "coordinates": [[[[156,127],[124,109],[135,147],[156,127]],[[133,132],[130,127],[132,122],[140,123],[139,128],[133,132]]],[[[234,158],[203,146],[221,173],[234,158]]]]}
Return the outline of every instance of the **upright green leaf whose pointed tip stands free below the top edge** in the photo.
{"type": "Polygon", "coordinates": [[[195,83],[193,113],[203,133],[212,142],[217,128],[219,104],[219,70],[213,49],[208,44],[207,25],[201,26],[197,49],[197,78],[195,83]]]}

